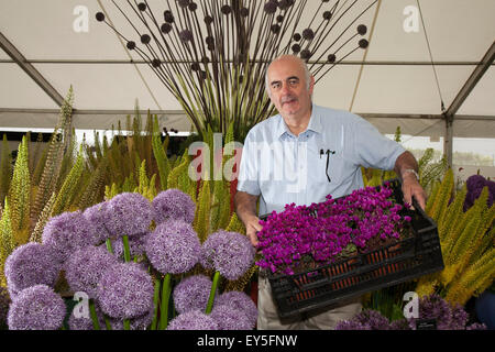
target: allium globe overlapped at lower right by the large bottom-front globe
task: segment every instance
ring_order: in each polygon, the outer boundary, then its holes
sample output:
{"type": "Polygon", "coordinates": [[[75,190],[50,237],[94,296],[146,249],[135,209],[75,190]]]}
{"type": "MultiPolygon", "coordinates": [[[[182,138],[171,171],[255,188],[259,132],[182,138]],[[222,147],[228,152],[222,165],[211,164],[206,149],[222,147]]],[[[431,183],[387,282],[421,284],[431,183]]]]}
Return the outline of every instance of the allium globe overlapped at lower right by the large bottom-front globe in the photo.
{"type": "Polygon", "coordinates": [[[72,290],[97,298],[101,275],[117,263],[117,257],[106,248],[89,245],[76,251],[65,262],[65,277],[72,290]]]}

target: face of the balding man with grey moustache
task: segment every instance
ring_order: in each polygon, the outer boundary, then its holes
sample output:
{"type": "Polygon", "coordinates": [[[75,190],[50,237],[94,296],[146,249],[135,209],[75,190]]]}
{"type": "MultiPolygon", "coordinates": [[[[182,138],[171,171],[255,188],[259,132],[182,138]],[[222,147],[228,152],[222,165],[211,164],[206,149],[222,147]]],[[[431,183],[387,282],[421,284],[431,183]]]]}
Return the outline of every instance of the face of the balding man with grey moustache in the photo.
{"type": "Polygon", "coordinates": [[[314,85],[311,77],[307,89],[305,69],[296,59],[278,59],[268,67],[270,98],[284,118],[310,114],[314,85]]]}

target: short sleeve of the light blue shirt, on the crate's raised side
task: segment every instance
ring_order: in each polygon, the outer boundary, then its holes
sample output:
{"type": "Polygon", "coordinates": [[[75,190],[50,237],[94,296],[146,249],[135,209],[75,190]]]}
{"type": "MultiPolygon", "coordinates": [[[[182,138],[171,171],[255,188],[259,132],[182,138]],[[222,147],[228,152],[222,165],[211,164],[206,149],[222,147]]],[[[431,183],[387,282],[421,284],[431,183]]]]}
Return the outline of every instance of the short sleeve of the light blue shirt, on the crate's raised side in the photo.
{"type": "Polygon", "coordinates": [[[362,118],[355,121],[353,132],[354,155],[358,163],[366,168],[393,169],[397,157],[406,151],[362,118]]]}

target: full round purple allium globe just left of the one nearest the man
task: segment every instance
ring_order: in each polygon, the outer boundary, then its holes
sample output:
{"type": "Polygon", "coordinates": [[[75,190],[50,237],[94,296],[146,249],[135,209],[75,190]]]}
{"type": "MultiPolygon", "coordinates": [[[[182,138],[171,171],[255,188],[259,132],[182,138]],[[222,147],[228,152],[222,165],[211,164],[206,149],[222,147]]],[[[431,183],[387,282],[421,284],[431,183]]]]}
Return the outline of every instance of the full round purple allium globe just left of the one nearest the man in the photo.
{"type": "Polygon", "coordinates": [[[162,274],[186,273],[198,262],[201,243],[193,226],[182,220],[156,227],[145,244],[153,267],[162,274]]]}

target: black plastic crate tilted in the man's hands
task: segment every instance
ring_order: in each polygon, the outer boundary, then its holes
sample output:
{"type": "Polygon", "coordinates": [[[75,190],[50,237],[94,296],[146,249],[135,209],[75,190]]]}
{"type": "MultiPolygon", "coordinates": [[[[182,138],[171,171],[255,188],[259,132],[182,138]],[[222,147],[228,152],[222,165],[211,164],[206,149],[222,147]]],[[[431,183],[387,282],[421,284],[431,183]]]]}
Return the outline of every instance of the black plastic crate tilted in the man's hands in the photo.
{"type": "MultiPolygon", "coordinates": [[[[399,180],[389,183],[395,200],[404,204],[399,180]]],[[[348,298],[443,270],[437,224],[415,200],[414,207],[415,210],[403,210],[403,215],[411,217],[414,235],[410,238],[302,273],[268,274],[278,315],[286,318],[331,308],[348,298]]]]}

